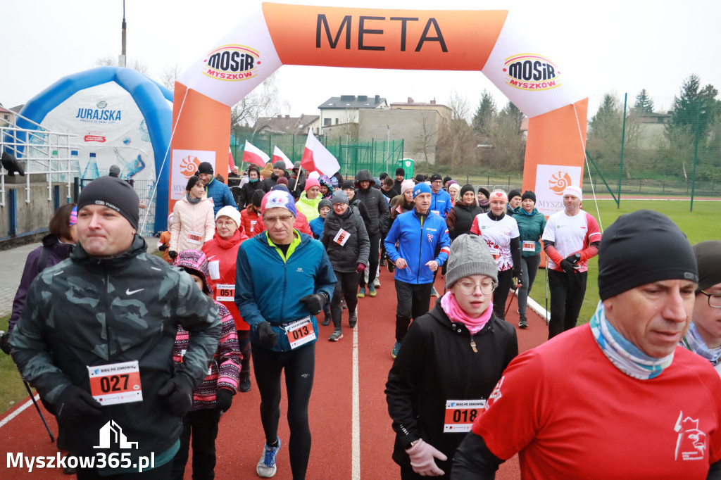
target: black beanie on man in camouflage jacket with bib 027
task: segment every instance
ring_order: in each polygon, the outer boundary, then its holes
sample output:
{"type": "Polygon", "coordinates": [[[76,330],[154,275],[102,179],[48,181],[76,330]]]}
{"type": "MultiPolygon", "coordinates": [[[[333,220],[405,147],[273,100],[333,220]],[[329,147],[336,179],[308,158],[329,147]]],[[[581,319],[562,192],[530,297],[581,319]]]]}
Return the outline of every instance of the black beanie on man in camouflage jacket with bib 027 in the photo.
{"type": "Polygon", "coordinates": [[[78,197],[78,211],[86,205],[102,205],[123,215],[131,226],[138,229],[138,194],[125,180],[116,177],[99,177],[90,182],[78,197]]]}

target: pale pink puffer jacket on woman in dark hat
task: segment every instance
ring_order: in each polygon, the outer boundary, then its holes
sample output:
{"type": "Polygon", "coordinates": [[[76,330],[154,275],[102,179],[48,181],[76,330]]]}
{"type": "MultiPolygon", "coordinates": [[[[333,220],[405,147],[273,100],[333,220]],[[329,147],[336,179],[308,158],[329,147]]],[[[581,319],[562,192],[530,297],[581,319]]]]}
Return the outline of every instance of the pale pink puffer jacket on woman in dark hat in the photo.
{"type": "Polygon", "coordinates": [[[182,197],[173,206],[173,223],[170,228],[170,250],[200,250],[213,238],[216,231],[213,203],[207,197],[193,205],[182,197]]]}

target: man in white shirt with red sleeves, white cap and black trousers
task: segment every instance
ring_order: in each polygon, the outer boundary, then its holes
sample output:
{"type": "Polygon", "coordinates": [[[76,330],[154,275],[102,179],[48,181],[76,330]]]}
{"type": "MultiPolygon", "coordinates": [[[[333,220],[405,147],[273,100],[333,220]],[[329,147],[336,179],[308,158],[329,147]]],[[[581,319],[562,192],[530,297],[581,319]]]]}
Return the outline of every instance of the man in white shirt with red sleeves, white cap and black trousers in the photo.
{"type": "Polygon", "coordinates": [[[551,290],[548,338],[576,326],[585,295],[588,259],[598,254],[601,230],[593,215],[581,210],[579,187],[563,191],[564,210],[548,218],[541,240],[549,259],[546,266],[551,290]]]}

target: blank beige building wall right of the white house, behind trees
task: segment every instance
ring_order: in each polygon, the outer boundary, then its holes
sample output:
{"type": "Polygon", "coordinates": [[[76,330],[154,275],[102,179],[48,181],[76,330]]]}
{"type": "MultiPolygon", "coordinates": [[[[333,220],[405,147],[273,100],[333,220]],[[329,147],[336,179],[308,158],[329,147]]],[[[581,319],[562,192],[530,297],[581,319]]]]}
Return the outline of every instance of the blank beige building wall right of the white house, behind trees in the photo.
{"type": "Polygon", "coordinates": [[[358,137],[375,138],[381,141],[390,136],[391,140],[403,139],[404,158],[435,163],[435,144],[443,117],[436,110],[361,110],[358,137]],[[390,132],[389,132],[390,127],[390,132]]]}

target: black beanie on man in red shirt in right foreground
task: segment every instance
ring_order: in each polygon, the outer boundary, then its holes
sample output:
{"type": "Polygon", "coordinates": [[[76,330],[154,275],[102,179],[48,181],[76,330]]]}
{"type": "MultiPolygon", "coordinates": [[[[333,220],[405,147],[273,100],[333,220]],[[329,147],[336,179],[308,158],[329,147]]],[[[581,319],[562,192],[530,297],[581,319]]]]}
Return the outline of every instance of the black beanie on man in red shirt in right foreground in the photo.
{"type": "Polygon", "coordinates": [[[660,280],[699,281],[696,255],[676,223],[653,210],[621,215],[598,249],[601,300],[660,280]]]}

